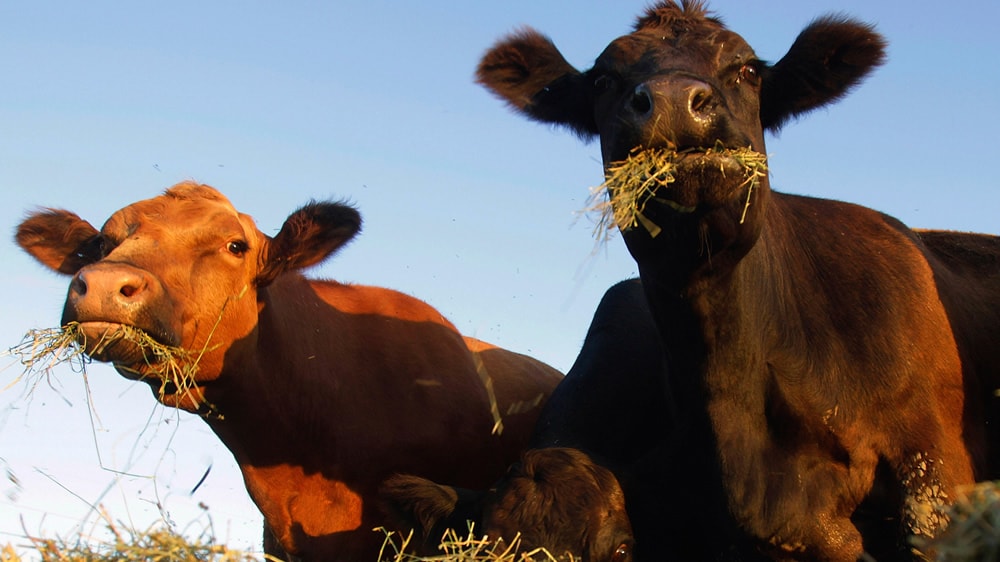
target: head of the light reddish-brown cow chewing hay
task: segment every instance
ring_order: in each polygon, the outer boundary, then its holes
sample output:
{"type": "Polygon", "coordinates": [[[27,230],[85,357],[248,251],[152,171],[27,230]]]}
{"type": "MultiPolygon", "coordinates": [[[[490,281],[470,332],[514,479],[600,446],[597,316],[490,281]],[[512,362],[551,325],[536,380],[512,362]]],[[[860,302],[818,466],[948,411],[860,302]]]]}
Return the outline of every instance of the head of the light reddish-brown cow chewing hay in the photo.
{"type": "Polygon", "coordinates": [[[218,191],[189,182],[121,209],[100,231],[47,209],[25,219],[16,238],[43,265],[72,275],[62,323],[78,324],[89,355],[146,380],[164,404],[194,411],[224,354],[253,333],[258,290],[324,260],[360,225],[349,206],[311,203],[271,238],[218,191]],[[164,381],[160,359],[134,339],[106,343],[122,327],[196,358],[194,387],[179,392],[164,381]]]}

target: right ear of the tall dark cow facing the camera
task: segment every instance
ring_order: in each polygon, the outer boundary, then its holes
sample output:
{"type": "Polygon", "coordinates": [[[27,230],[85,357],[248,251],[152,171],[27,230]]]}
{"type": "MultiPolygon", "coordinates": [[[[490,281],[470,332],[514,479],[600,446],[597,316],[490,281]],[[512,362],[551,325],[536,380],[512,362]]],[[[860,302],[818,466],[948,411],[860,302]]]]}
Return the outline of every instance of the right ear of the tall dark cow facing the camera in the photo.
{"type": "Polygon", "coordinates": [[[760,120],[778,130],[788,119],[837,101],[885,61],[886,42],[871,25],[820,18],[764,73],[760,120]]]}

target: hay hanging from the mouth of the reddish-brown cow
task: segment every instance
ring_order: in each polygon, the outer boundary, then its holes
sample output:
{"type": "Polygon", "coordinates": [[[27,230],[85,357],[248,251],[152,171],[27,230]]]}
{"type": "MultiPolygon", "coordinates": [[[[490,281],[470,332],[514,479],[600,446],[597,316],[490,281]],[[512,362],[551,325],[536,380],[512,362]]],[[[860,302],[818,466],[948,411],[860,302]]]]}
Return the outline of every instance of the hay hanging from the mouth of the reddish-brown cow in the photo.
{"type": "Polygon", "coordinates": [[[104,332],[93,343],[87,341],[87,335],[77,322],[70,322],[62,328],[30,330],[19,345],[10,349],[10,353],[25,366],[25,374],[42,373],[47,376],[53,367],[61,363],[70,363],[83,371],[91,361],[89,356],[100,357],[110,348],[122,343],[131,344],[142,354],[142,361],[147,369],[140,373],[122,365],[116,367],[129,371],[140,380],[159,380],[157,396],[160,400],[170,394],[178,398],[190,397],[196,404],[204,401],[196,390],[195,382],[201,354],[164,345],[132,326],[119,325],[114,330],[104,332]]]}

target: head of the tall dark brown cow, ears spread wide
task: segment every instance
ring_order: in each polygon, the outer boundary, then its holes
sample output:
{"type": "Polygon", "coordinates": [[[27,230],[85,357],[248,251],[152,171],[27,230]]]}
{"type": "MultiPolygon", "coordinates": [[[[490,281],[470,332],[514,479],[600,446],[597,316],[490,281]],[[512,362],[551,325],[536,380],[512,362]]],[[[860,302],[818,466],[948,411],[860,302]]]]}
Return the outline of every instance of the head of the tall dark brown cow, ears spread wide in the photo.
{"type": "MultiPolygon", "coordinates": [[[[759,232],[767,178],[751,194],[731,151],[765,154],[765,130],[846,94],[884,47],[870,26],[826,17],[770,65],[702,2],[684,0],[650,8],[585,72],[527,29],[487,52],[477,78],[532,119],[599,137],[606,169],[637,150],[680,153],[676,181],[644,214],[662,227],[660,250],[684,246],[697,255],[682,259],[697,261],[709,257],[705,248],[745,252],[759,232]]],[[[633,254],[650,244],[639,230],[625,233],[633,254]]]]}

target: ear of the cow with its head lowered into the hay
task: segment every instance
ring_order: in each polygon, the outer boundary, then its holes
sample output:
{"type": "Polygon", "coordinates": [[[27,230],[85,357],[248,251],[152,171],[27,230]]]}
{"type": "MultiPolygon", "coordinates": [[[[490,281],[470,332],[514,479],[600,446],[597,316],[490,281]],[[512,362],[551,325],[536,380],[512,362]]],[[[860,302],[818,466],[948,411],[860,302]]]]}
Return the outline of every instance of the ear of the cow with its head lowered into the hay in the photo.
{"type": "Polygon", "coordinates": [[[413,529],[427,541],[440,539],[448,529],[460,534],[465,531],[469,521],[478,519],[483,495],[419,476],[397,474],[382,484],[379,502],[393,526],[413,529]]]}

